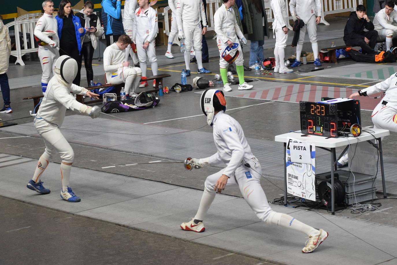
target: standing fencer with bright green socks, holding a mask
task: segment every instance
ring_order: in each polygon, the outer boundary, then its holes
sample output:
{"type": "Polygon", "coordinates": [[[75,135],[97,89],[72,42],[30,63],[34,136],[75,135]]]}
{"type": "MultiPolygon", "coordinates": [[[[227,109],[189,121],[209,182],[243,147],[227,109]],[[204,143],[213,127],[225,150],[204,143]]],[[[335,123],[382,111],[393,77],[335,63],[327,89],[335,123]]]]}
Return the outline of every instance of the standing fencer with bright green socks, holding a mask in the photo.
{"type": "Polygon", "coordinates": [[[219,49],[219,66],[222,81],[224,83],[224,91],[231,91],[230,83],[227,82],[227,66],[233,62],[236,64],[236,72],[239,76],[239,90],[252,89],[253,85],[249,85],[244,80],[244,59],[243,50],[239,44],[239,38],[243,44],[247,44],[231,6],[235,5],[235,0],[223,0],[222,6],[216,10],[214,14],[214,27],[216,32],[216,43],[219,49]],[[238,36],[238,37],[237,37],[238,36]]]}

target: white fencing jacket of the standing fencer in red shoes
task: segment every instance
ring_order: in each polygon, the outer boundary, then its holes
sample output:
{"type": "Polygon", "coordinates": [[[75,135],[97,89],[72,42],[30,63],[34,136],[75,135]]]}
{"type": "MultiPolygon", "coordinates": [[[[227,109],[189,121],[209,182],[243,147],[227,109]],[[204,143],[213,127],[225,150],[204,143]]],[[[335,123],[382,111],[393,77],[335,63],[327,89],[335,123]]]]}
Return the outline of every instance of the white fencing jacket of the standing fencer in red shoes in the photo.
{"type": "Polygon", "coordinates": [[[158,33],[157,20],[157,12],[150,6],[146,10],[137,8],[135,10],[134,26],[132,28],[133,41],[141,44],[144,44],[146,41],[149,43],[152,42],[158,33]]]}

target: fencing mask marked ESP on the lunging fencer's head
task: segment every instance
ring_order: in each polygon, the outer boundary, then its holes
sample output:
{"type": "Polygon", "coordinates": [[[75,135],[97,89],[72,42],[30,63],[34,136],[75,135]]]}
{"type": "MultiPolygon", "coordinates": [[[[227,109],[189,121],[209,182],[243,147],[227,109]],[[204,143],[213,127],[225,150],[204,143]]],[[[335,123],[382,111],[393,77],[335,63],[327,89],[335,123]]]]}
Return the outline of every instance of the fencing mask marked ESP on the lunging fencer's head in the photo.
{"type": "Polygon", "coordinates": [[[218,89],[207,89],[201,94],[200,98],[201,110],[207,116],[207,124],[212,126],[214,120],[214,112],[226,110],[226,100],[224,93],[218,89]]]}

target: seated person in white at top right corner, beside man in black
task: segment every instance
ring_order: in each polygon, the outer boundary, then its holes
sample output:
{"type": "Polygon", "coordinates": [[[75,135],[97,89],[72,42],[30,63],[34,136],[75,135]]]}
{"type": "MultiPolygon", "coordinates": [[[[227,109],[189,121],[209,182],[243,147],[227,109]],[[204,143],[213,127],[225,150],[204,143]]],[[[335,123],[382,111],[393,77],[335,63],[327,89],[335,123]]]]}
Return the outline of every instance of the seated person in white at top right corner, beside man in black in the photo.
{"type": "Polygon", "coordinates": [[[386,39],[386,50],[390,50],[392,39],[397,37],[397,26],[393,22],[397,22],[397,13],[394,12],[394,4],[392,6],[385,5],[385,8],[376,13],[374,17],[374,28],[378,31],[380,39],[386,39]]]}

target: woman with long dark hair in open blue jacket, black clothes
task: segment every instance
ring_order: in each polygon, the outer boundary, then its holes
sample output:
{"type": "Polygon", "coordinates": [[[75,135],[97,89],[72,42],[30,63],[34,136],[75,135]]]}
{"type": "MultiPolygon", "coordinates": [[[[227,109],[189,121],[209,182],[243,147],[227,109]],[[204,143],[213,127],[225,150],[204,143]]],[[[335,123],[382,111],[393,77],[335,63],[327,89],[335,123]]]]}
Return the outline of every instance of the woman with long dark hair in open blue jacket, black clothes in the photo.
{"type": "Polygon", "coordinates": [[[69,0],[62,0],[59,4],[58,15],[55,17],[58,23],[59,55],[68,55],[75,59],[78,66],[76,78],[73,84],[80,85],[81,70],[81,40],[86,30],[81,27],[80,18],[73,14],[69,0]]]}

